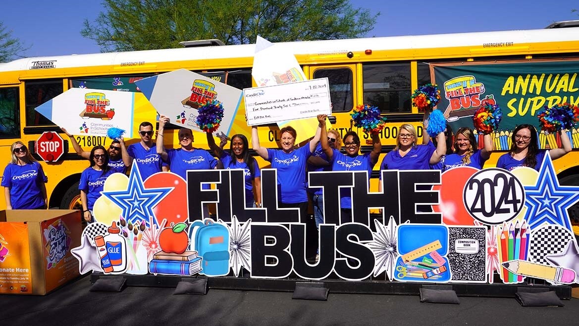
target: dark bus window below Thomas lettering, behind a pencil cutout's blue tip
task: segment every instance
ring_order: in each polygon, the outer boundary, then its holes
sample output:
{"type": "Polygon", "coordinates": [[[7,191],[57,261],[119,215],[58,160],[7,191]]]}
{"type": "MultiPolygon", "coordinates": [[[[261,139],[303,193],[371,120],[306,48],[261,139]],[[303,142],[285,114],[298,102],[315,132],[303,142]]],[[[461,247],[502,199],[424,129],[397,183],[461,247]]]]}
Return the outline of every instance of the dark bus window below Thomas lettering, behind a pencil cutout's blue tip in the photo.
{"type": "Polygon", "coordinates": [[[52,100],[63,93],[63,80],[42,80],[41,82],[25,82],[24,93],[26,101],[26,126],[50,126],[49,119],[36,112],[39,105],[52,100]]]}

